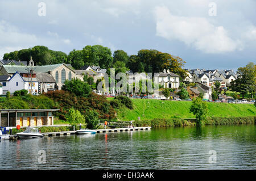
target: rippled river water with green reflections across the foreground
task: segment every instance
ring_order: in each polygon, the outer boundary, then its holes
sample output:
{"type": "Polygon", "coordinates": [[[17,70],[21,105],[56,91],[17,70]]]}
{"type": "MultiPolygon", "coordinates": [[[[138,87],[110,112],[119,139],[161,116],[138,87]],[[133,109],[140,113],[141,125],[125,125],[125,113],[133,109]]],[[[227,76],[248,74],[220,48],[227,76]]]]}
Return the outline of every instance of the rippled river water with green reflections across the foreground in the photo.
{"type": "Polygon", "coordinates": [[[256,169],[255,128],[221,125],[5,140],[0,141],[0,168],[256,169]]]}

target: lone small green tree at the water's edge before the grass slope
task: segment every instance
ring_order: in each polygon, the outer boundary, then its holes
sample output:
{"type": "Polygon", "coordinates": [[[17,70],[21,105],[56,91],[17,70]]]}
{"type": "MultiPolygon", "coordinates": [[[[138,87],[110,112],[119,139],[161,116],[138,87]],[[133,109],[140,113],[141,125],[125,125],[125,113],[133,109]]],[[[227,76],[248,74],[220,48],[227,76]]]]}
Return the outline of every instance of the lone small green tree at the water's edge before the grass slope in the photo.
{"type": "Polygon", "coordinates": [[[192,112],[196,116],[196,124],[201,125],[207,117],[208,106],[207,103],[200,98],[193,99],[192,105],[189,108],[189,112],[192,112]]]}

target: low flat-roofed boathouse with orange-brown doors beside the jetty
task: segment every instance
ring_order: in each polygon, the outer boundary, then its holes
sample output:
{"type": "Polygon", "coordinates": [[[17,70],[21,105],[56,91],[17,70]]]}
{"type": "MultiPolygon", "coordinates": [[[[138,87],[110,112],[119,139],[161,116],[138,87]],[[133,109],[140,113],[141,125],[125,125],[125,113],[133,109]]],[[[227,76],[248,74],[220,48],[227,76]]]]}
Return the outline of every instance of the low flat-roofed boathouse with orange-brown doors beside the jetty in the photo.
{"type": "Polygon", "coordinates": [[[0,110],[1,127],[53,125],[53,111],[59,109],[0,110]]]}

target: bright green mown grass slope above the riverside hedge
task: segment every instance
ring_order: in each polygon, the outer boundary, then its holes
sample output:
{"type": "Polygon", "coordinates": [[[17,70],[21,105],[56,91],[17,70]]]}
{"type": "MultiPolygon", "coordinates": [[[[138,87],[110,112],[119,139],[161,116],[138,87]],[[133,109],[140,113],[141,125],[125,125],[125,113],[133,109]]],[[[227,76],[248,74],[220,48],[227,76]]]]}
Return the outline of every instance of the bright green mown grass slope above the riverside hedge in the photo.
{"type": "MultiPolygon", "coordinates": [[[[154,118],[194,118],[189,113],[192,102],[167,101],[154,99],[132,99],[134,110],[122,107],[117,110],[119,120],[141,120],[154,118]]],[[[209,117],[243,117],[255,116],[256,108],[253,104],[228,104],[228,103],[207,103],[209,117]]]]}

